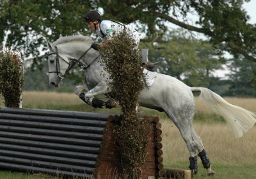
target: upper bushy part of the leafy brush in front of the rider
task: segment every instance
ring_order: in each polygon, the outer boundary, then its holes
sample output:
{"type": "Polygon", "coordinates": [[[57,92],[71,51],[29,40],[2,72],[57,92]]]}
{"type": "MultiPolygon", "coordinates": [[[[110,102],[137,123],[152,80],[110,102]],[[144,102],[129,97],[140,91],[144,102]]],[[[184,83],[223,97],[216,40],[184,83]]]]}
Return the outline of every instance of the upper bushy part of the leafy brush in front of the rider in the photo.
{"type": "Polygon", "coordinates": [[[125,31],[114,36],[100,51],[101,65],[109,74],[109,85],[125,115],[136,108],[143,89],[143,68],[140,51],[135,48],[136,42],[125,31]]]}

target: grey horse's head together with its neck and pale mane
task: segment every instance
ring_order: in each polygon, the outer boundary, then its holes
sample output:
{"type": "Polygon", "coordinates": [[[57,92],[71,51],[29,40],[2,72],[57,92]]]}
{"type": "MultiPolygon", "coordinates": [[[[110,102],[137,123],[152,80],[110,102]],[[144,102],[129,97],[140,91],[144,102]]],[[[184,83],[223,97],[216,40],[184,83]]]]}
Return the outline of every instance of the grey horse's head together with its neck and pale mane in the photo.
{"type": "Polygon", "coordinates": [[[99,58],[99,52],[92,49],[92,43],[92,38],[81,35],[61,37],[52,44],[47,42],[50,84],[60,86],[65,74],[68,74],[75,64],[84,69],[96,65],[93,62],[99,58]]]}

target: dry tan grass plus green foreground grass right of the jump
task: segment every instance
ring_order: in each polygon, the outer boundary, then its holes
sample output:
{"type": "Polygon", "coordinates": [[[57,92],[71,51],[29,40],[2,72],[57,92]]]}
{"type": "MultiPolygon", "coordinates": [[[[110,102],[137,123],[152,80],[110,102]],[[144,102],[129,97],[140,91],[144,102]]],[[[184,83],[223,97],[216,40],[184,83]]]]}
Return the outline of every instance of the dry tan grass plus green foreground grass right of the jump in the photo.
{"type": "MultiPolygon", "coordinates": [[[[189,153],[179,130],[171,121],[162,120],[164,167],[188,169],[189,153]]],[[[214,178],[256,178],[256,127],[240,139],[235,139],[225,123],[194,123],[205,150],[216,171],[214,178]]],[[[194,178],[204,178],[206,171],[198,158],[199,173],[194,178]]]]}

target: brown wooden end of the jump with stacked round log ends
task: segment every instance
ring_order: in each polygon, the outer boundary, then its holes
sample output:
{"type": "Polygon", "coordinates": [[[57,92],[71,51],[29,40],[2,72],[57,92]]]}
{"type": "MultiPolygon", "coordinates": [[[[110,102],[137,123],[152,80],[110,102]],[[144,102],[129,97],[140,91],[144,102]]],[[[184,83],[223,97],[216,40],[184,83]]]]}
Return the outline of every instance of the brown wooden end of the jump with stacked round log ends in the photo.
{"type": "MultiPolygon", "coordinates": [[[[122,164],[118,159],[118,150],[113,143],[113,123],[118,120],[117,116],[110,116],[109,121],[106,123],[106,129],[104,130],[104,137],[102,146],[100,148],[99,157],[94,171],[95,178],[110,179],[118,178],[122,174],[122,164]]],[[[142,179],[158,178],[163,173],[163,151],[161,148],[161,132],[159,130],[158,117],[144,116],[144,120],[149,121],[150,125],[147,156],[145,163],[140,167],[142,179]],[[156,118],[156,121],[154,120],[156,118]],[[157,128],[156,128],[157,127],[157,128]],[[160,151],[160,152],[159,152],[160,151]]]]}

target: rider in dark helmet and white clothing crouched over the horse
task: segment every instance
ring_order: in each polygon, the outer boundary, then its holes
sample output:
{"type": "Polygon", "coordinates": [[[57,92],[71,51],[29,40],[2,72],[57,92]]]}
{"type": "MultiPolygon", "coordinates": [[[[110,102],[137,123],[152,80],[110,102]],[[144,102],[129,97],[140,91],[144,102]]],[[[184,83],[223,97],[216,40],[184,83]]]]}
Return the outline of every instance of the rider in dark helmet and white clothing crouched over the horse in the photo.
{"type": "Polygon", "coordinates": [[[84,17],[84,20],[88,23],[88,27],[93,31],[97,31],[97,35],[102,39],[101,44],[92,44],[93,49],[99,51],[100,48],[105,47],[113,38],[114,31],[115,33],[120,33],[124,29],[129,35],[131,35],[131,38],[135,40],[137,45],[136,48],[138,48],[140,35],[132,26],[125,25],[114,20],[102,20],[100,13],[95,10],[88,12],[84,17]]]}

